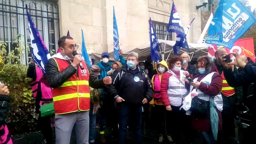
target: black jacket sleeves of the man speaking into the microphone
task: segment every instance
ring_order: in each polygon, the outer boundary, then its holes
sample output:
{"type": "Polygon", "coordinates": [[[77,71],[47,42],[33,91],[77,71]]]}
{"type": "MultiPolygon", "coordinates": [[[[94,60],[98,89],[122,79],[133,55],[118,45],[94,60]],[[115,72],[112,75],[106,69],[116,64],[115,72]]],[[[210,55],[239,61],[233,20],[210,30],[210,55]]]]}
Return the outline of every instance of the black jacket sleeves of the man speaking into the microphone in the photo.
{"type": "MultiPolygon", "coordinates": [[[[90,87],[96,88],[96,89],[103,88],[104,87],[103,79],[98,79],[97,76],[94,75],[93,72],[91,71],[91,68],[89,67],[87,62],[85,62],[85,64],[90,73],[90,78],[89,78],[90,87]]],[[[71,65],[71,63],[62,72],[59,72],[57,63],[55,62],[54,59],[49,59],[46,63],[45,68],[46,68],[47,81],[52,88],[60,87],[64,82],[68,81],[68,79],[71,78],[71,76],[73,76],[77,72],[77,69],[75,69],[74,66],[71,65]]]]}

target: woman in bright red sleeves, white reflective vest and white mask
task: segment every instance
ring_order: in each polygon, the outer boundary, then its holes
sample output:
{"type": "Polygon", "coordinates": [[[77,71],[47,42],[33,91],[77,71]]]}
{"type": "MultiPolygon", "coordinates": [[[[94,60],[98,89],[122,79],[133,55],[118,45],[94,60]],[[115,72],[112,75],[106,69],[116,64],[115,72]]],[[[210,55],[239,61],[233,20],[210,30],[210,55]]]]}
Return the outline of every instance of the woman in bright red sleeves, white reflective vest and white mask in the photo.
{"type": "Polygon", "coordinates": [[[191,119],[184,109],[182,101],[188,95],[185,79],[190,76],[187,71],[181,70],[182,58],[174,56],[168,60],[169,71],[161,79],[162,102],[166,107],[167,134],[171,134],[175,144],[181,141],[181,131],[185,135],[186,143],[191,144],[191,119]]]}

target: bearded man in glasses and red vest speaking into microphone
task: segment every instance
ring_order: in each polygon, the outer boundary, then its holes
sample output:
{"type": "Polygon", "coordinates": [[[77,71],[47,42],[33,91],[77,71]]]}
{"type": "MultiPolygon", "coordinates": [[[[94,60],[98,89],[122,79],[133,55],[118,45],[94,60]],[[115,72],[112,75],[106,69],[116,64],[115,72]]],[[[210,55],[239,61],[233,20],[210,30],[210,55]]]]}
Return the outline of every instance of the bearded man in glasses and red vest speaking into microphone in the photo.
{"type": "Polygon", "coordinates": [[[88,144],[89,85],[103,88],[110,85],[112,79],[110,76],[97,79],[88,64],[77,55],[78,46],[72,37],[61,37],[58,45],[61,52],[46,63],[46,78],[53,88],[56,144],[69,144],[75,123],[77,144],[88,144]]]}

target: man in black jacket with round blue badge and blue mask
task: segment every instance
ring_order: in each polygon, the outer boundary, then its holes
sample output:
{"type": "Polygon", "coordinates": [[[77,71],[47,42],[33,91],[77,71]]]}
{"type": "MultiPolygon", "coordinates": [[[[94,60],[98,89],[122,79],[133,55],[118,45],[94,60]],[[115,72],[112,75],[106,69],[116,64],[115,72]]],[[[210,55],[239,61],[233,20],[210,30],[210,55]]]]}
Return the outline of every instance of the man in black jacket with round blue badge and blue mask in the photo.
{"type": "Polygon", "coordinates": [[[141,144],[142,106],[153,99],[153,89],[149,76],[138,66],[137,53],[129,53],[127,65],[115,70],[107,92],[119,104],[118,143],[125,144],[129,115],[132,115],[135,144],[141,144]]]}

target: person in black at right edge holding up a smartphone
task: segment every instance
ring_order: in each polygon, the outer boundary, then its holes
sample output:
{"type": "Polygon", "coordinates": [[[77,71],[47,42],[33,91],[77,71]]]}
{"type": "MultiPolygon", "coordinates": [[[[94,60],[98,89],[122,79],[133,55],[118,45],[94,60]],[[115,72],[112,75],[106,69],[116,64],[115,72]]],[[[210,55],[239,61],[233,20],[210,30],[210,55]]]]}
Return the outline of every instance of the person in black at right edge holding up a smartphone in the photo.
{"type": "MultiPolygon", "coordinates": [[[[243,60],[241,59],[240,55],[237,52],[230,53],[230,54],[233,54],[237,59],[235,62],[225,63],[226,54],[222,56],[222,65],[224,66],[223,72],[228,84],[231,87],[240,87],[243,85],[251,84],[252,82],[255,83],[256,82],[256,63],[246,64],[243,62],[243,60]],[[244,71],[241,73],[235,74],[232,71],[230,65],[243,68],[244,71]]],[[[252,96],[252,102],[256,101],[256,85],[254,84],[253,86],[254,86],[254,91],[252,96]]],[[[249,131],[248,135],[246,135],[246,138],[245,137],[243,138],[244,144],[249,144],[249,143],[252,143],[252,141],[254,141],[253,134],[255,134],[255,129],[256,129],[256,107],[255,106],[251,106],[250,113],[252,114],[252,119],[251,119],[250,126],[248,128],[248,131],[249,131]]]]}

